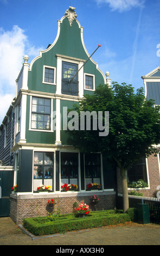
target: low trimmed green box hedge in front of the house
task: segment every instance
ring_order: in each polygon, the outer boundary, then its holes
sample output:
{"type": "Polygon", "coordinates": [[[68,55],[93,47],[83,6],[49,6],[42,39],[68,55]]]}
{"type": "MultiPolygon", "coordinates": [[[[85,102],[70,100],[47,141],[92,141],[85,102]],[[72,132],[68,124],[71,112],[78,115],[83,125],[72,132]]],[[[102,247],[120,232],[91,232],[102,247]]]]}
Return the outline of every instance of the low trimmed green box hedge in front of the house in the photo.
{"type": "Polygon", "coordinates": [[[95,211],[84,218],[75,215],[61,215],[52,217],[25,218],[23,227],[30,233],[39,235],[50,235],[55,233],[65,233],[66,231],[81,230],[87,228],[98,228],[106,225],[115,225],[134,220],[135,209],[129,209],[126,214],[114,210],[95,211]]]}

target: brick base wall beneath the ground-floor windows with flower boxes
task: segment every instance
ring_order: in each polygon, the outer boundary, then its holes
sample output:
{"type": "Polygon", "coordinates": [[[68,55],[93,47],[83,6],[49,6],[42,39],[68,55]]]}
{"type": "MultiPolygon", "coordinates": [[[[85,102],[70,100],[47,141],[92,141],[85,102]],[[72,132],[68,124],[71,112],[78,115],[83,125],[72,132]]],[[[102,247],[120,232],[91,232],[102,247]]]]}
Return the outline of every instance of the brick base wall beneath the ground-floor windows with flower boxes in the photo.
{"type": "MultiPolygon", "coordinates": [[[[100,192],[96,193],[93,192],[92,194],[88,194],[88,196],[72,196],[67,193],[65,197],[56,195],[51,196],[48,193],[41,197],[39,196],[16,196],[11,195],[10,200],[10,218],[16,223],[20,224],[23,222],[24,218],[30,217],[38,217],[38,216],[47,216],[48,215],[48,199],[55,199],[55,210],[60,208],[61,214],[67,214],[73,212],[73,204],[77,202],[78,205],[81,202],[84,202],[89,205],[89,210],[94,210],[94,205],[91,202],[91,196],[93,194],[99,197],[99,203],[97,205],[97,210],[107,210],[107,209],[114,209],[116,207],[116,195],[114,192],[111,194],[99,194],[100,192]],[[27,198],[28,197],[28,198],[27,198]]],[[[40,193],[41,194],[41,193],[40,193]]]]}

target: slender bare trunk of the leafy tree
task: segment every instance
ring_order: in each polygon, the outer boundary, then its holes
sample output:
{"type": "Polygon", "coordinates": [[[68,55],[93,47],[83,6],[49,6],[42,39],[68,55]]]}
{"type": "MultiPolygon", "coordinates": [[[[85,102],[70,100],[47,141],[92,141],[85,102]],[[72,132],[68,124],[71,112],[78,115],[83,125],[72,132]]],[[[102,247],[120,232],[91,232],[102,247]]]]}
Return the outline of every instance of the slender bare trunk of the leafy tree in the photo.
{"type": "Polygon", "coordinates": [[[129,209],[129,195],[128,195],[128,187],[127,187],[127,176],[126,170],[120,169],[121,181],[122,181],[122,189],[123,189],[123,212],[125,213],[127,209],[129,209]]]}

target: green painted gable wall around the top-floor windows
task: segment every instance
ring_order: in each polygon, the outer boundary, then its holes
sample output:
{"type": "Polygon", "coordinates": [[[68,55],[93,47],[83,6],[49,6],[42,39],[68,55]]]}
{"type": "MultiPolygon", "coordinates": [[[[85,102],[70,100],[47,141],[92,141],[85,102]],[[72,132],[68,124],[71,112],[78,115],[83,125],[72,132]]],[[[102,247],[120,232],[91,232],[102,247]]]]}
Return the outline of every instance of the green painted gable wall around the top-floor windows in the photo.
{"type": "MultiPolygon", "coordinates": [[[[84,46],[82,45],[81,29],[79,28],[78,22],[73,21],[72,26],[70,26],[67,18],[62,21],[60,24],[60,35],[56,44],[49,51],[43,52],[42,57],[36,59],[33,63],[32,69],[28,74],[28,89],[46,93],[56,92],[56,86],[42,83],[43,65],[57,68],[56,54],[84,60],[88,58],[84,46]]],[[[97,70],[96,65],[91,60],[88,60],[85,64],[84,72],[95,75],[96,86],[100,83],[104,83],[103,75],[101,75],[100,71],[97,70]]]]}

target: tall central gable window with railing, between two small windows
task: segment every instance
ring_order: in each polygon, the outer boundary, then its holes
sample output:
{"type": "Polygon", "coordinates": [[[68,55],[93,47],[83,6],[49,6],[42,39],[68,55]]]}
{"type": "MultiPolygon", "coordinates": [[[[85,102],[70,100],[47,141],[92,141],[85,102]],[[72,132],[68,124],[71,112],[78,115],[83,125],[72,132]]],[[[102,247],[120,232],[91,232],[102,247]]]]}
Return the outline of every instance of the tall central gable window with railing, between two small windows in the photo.
{"type": "Polygon", "coordinates": [[[78,64],[62,62],[62,94],[78,96],[78,64]]]}

